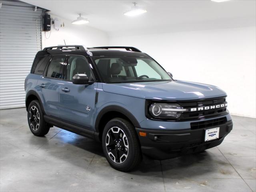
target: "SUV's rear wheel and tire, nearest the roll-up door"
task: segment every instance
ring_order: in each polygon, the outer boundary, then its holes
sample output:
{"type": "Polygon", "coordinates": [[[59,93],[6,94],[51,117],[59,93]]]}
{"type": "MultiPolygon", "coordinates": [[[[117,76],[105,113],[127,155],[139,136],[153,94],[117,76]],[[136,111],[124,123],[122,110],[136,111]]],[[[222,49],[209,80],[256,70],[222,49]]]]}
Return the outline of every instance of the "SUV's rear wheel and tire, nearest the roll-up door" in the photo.
{"type": "Polygon", "coordinates": [[[44,113],[38,100],[33,100],[28,106],[28,126],[35,136],[44,136],[50,130],[50,126],[44,121],[44,113]]]}

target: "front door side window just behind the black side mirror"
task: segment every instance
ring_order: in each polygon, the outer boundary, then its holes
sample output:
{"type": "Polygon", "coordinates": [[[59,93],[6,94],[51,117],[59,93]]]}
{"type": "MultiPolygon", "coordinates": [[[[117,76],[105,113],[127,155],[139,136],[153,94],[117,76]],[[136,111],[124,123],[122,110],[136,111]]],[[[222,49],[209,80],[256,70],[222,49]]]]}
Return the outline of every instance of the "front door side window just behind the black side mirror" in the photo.
{"type": "Polygon", "coordinates": [[[66,80],[72,80],[75,74],[86,74],[89,80],[92,79],[90,65],[83,56],[70,56],[68,60],[68,69],[66,80]]]}

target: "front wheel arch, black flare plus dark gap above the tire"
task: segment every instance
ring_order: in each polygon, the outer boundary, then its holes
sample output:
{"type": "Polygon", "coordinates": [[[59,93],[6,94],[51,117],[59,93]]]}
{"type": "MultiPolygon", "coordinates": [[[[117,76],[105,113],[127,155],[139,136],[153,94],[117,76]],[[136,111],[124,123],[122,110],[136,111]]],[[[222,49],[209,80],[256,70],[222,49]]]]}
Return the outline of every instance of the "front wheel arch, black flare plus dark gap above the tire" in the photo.
{"type": "Polygon", "coordinates": [[[95,121],[95,130],[96,130],[96,133],[98,133],[98,137],[100,141],[101,141],[102,132],[106,123],[109,120],[117,117],[124,118],[128,120],[134,127],[140,128],[140,124],[138,120],[127,109],[118,105],[106,106],[99,112],[95,121]]]}

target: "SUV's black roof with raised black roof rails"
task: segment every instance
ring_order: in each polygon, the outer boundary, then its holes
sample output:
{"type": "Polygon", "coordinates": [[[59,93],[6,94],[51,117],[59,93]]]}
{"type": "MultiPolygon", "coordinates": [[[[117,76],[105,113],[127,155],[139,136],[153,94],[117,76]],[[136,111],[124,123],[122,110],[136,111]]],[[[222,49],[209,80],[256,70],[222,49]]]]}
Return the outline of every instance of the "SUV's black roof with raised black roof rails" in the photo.
{"type": "Polygon", "coordinates": [[[53,46],[46,47],[42,51],[37,53],[37,56],[43,56],[48,54],[81,54],[85,53],[87,56],[135,56],[135,57],[149,57],[148,54],[142,53],[140,50],[134,47],[92,47],[84,48],[80,45],[68,45],[68,46],[53,46]],[[113,50],[116,49],[116,50],[113,50]],[[119,49],[119,50],[118,50],[119,49]],[[123,50],[120,50],[123,49],[123,50]]]}

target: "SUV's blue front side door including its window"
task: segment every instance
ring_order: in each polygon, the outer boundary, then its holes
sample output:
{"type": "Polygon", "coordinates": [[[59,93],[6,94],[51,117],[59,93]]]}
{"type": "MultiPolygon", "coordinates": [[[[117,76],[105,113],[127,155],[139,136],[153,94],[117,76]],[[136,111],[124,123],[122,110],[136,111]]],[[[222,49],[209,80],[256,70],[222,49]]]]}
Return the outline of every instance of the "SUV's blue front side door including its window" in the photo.
{"type": "Polygon", "coordinates": [[[92,130],[97,83],[73,84],[72,77],[75,74],[86,74],[90,81],[94,80],[90,65],[84,56],[71,55],[68,58],[65,72],[66,81],[60,85],[59,90],[60,116],[72,124],[92,130]]]}

